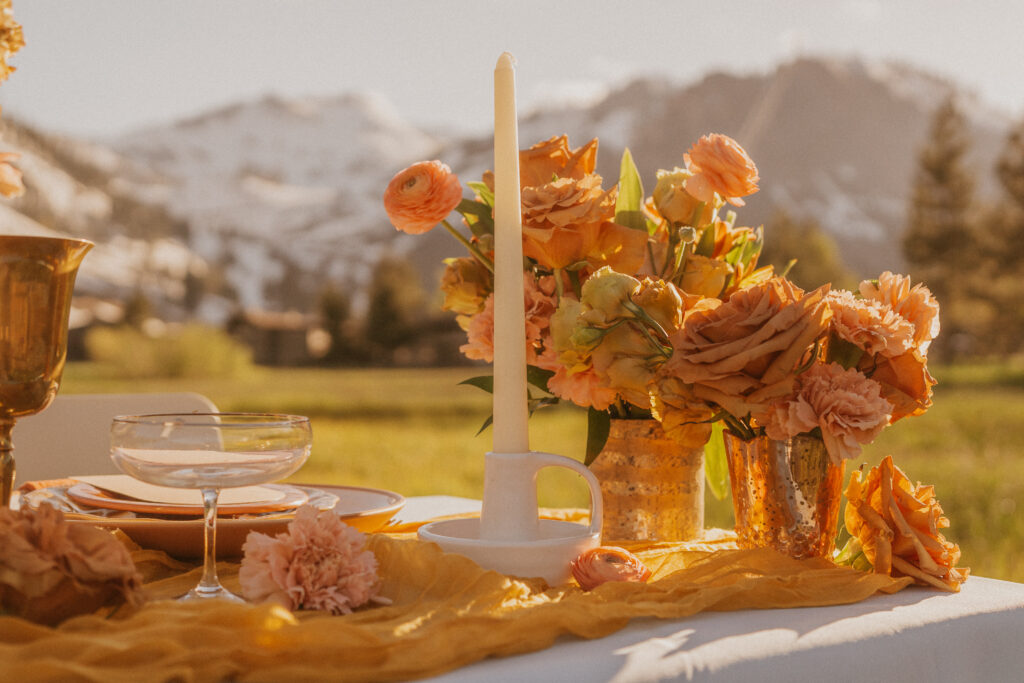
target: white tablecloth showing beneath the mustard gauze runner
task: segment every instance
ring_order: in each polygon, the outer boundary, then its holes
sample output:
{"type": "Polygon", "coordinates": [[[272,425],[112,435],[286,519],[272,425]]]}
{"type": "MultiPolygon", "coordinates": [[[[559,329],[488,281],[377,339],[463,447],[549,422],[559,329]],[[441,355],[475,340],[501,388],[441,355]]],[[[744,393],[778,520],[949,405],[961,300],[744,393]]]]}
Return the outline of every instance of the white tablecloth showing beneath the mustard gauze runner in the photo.
{"type": "MultiPolygon", "coordinates": [[[[401,517],[478,509],[467,499],[414,498],[401,517]]],[[[638,620],[600,640],[563,638],[429,680],[1019,682],[1024,584],[972,577],[958,594],[912,587],[852,605],[638,620]]]]}

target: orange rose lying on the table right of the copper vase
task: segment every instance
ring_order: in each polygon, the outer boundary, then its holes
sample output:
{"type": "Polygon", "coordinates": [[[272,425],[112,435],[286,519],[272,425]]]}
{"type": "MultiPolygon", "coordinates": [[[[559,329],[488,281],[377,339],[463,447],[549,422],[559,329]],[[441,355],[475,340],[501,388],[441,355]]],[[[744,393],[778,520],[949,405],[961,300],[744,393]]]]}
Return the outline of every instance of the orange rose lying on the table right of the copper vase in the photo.
{"type": "Polygon", "coordinates": [[[940,530],[949,520],[933,486],[910,483],[889,456],[866,476],[854,472],[846,498],[846,529],[852,538],[837,556],[838,563],[959,591],[970,569],[955,566],[959,546],[940,530]]]}

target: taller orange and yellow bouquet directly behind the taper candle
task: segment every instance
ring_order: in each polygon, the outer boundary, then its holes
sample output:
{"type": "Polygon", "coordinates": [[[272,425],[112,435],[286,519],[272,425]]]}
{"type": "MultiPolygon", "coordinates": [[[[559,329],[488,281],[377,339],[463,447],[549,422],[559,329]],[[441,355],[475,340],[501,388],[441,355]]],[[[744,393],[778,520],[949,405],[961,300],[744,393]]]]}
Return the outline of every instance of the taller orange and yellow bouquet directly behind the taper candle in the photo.
{"type": "MultiPolygon", "coordinates": [[[[531,397],[531,409],[551,396],[590,409],[589,458],[612,417],[652,415],[653,379],[686,314],[771,276],[771,268],[757,267],[761,229],[738,226],[732,211],[723,212],[758,189],[757,167],[734,140],[700,138],[684,155],[685,168],[657,173],[650,198],[629,151],[618,183],[605,189],[594,172],[597,147],[593,139],[572,148],[563,135],[519,159],[524,342],[529,380],[546,392],[531,397]]],[[[472,200],[458,187],[447,166],[420,162],[392,178],[384,206],[397,229],[419,234],[441,224],[466,247],[468,256],[445,261],[443,306],[466,331],[463,353],[490,361],[494,177],[469,183],[472,200]],[[452,211],[468,237],[447,222],[452,211]]],[[[677,422],[681,440],[707,441],[707,424],[687,432],[677,422]]]]}

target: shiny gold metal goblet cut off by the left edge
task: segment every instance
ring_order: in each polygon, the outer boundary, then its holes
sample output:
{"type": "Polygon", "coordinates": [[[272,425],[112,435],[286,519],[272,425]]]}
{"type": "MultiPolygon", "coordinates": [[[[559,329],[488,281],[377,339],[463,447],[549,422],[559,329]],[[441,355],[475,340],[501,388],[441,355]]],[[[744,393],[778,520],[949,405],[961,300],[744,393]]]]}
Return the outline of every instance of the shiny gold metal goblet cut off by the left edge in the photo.
{"type": "Polygon", "coordinates": [[[53,400],[68,357],[75,275],[91,242],[0,236],[0,506],[10,505],[17,418],[53,400]]]}

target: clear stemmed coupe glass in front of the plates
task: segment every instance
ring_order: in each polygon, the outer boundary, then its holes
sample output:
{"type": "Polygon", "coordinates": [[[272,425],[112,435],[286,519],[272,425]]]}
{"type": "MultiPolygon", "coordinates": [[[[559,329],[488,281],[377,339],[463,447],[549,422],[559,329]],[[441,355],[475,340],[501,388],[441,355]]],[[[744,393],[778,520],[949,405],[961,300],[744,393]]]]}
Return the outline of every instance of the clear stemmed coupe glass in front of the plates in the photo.
{"type": "Polygon", "coordinates": [[[217,579],[217,497],[221,488],[275,481],[309,457],[309,419],[260,413],[120,416],[111,426],[111,459],[126,474],[203,494],[203,578],[181,600],[240,601],[217,579]]]}

